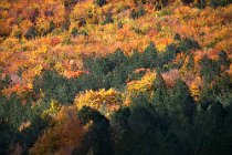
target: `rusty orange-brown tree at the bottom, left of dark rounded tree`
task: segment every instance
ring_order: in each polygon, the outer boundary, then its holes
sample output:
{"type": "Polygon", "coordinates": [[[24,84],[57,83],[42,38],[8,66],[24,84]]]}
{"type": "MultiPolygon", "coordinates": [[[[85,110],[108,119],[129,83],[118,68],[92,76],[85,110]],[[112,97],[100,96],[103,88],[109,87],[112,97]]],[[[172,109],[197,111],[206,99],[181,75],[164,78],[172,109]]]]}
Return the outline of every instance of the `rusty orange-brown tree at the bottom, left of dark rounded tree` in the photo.
{"type": "Polygon", "coordinates": [[[30,149],[30,154],[54,154],[63,149],[78,148],[85,128],[74,107],[63,107],[54,118],[54,126],[48,128],[30,149]],[[54,152],[55,148],[55,152],[54,152]]]}

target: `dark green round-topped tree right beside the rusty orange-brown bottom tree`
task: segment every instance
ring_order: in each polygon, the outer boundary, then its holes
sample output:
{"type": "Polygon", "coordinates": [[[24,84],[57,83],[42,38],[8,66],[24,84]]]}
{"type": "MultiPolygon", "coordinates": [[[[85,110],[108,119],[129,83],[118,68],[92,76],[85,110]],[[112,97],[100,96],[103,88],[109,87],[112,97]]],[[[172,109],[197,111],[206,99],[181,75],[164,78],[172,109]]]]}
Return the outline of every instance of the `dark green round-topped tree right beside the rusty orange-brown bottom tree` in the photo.
{"type": "Polygon", "coordinates": [[[110,126],[108,120],[98,111],[83,106],[78,112],[81,121],[86,124],[93,121],[88,133],[86,133],[80,149],[73,154],[86,154],[92,151],[95,155],[109,155],[114,153],[110,126]]]}

